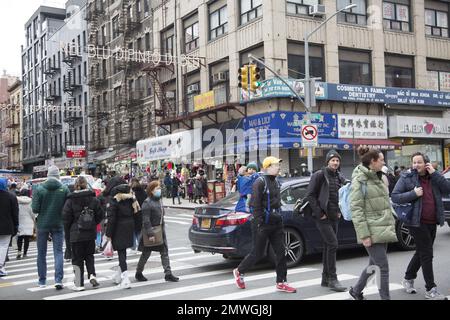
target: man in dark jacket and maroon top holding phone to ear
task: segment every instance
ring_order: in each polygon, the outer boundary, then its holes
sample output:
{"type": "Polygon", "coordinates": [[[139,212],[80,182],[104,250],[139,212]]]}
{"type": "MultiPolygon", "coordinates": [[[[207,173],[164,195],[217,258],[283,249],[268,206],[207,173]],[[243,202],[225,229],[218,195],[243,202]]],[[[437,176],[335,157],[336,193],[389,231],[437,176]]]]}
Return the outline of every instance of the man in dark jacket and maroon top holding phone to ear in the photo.
{"type": "Polygon", "coordinates": [[[416,293],[414,280],[422,268],[425,279],[425,298],[430,300],[447,300],[437,291],[433,273],[433,244],[436,229],[444,225],[444,204],[442,194],[450,192],[450,182],[435,170],[430,160],[423,153],[411,156],[412,170],[400,176],[394,190],[392,201],[398,204],[412,203],[411,219],[405,222],[414,238],[416,252],[405,273],[402,285],[407,293],[416,293]]]}

